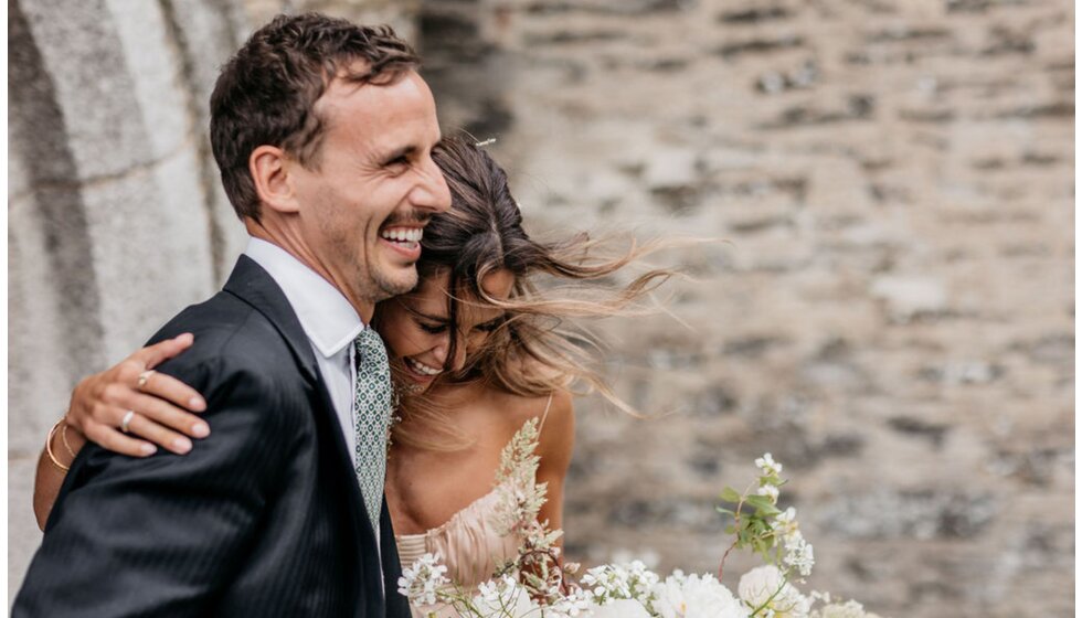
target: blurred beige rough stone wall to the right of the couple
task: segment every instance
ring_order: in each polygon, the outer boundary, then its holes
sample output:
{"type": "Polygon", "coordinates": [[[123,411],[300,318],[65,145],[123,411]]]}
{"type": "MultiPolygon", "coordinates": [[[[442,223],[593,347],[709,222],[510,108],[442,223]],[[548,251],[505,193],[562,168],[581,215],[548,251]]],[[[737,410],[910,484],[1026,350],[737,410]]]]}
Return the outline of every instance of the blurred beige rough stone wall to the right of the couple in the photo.
{"type": "MultiPolygon", "coordinates": [[[[814,587],[883,615],[1073,615],[1074,9],[1056,1],[428,2],[445,131],[534,230],[724,242],[602,328],[569,555],[713,571],[773,451],[814,587]],[[448,34],[453,33],[453,34],[448,34]],[[742,487],[742,486],[741,486],[742,487]]],[[[726,569],[735,584],[742,565],[726,569]]]]}

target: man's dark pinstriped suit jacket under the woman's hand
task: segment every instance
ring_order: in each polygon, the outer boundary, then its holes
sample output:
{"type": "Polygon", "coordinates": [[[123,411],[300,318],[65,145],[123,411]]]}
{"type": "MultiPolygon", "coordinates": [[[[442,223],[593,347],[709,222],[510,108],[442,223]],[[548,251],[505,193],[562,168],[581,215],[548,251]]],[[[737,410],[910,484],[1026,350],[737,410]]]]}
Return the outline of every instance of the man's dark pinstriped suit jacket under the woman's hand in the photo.
{"type": "Polygon", "coordinates": [[[210,437],[147,459],[87,446],[72,466],[13,616],[409,618],[386,507],[385,589],[338,418],[282,290],[242,256],[223,291],[151,341],[200,391],[210,437]]]}

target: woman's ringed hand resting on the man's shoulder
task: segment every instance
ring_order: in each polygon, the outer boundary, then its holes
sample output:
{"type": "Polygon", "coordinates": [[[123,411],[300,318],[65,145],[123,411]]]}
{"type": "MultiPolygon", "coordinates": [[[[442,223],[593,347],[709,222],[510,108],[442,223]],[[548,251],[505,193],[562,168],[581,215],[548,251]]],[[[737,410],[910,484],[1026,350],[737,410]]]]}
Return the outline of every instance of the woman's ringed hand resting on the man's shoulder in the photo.
{"type": "Polygon", "coordinates": [[[152,370],[193,341],[190,333],[174,337],[85,377],[72,393],[68,426],[104,448],[132,457],[153,455],[155,445],[178,455],[190,451],[190,438],[210,435],[206,423],[191,414],[204,412],[206,402],[191,386],[152,370]],[[121,430],[126,416],[127,433],[121,430]]]}

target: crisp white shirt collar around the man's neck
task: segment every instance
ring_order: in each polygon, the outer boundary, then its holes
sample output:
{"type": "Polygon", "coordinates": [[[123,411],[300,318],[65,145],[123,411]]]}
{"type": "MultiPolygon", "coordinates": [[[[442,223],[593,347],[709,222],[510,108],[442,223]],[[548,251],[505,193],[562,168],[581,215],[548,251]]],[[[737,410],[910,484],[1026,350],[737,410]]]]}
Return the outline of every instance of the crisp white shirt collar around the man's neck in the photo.
{"type": "Polygon", "coordinates": [[[342,292],[282,247],[251,237],[244,255],[278,284],[305,334],[323,356],[338,354],[364,330],[342,292]]]}

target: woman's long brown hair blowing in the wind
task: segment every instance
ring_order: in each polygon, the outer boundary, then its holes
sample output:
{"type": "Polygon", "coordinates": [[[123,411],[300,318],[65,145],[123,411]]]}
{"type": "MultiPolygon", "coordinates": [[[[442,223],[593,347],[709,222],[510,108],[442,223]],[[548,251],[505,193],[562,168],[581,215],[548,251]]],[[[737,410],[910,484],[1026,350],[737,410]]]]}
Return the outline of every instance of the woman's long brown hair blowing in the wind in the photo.
{"type": "MultiPolygon", "coordinates": [[[[522,213],[511,196],[507,174],[487,152],[460,138],[444,138],[433,150],[452,194],[450,211],[432,219],[421,243],[420,277],[449,276],[447,289],[450,344],[447,366],[455,359],[457,328],[465,303],[495,307],[505,319],[477,350],[466,366],[437,380],[484,381],[487,385],[523,397],[549,395],[560,388],[598,392],[614,405],[637,414],[617,397],[597,372],[601,347],[581,323],[582,318],[641,313],[644,299],[675,273],[653,269],[629,284],[586,285],[606,279],[666,243],[638,246],[634,242],[617,255],[604,252],[611,242],[579,234],[558,242],[531,238],[522,228],[522,213]],[[481,287],[486,275],[508,270],[515,284],[506,300],[481,287]],[[539,279],[563,281],[545,286],[539,279]]],[[[545,281],[549,283],[549,281],[545,281]]],[[[393,302],[393,301],[392,301],[393,302]]],[[[394,428],[394,441],[420,448],[455,450],[471,440],[449,422],[452,411],[439,409],[424,395],[403,393],[400,414],[407,423],[394,428]],[[415,428],[424,425],[421,431],[415,428]]]]}

